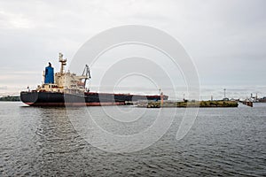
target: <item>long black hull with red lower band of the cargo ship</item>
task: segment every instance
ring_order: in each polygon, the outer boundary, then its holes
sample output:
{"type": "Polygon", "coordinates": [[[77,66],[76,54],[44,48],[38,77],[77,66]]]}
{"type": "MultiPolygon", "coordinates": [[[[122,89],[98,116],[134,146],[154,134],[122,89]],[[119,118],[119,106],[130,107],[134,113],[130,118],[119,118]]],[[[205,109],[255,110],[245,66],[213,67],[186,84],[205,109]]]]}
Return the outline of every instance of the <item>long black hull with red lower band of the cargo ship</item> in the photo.
{"type": "MultiPolygon", "coordinates": [[[[161,96],[141,96],[131,94],[109,94],[85,92],[84,94],[63,94],[59,92],[20,92],[20,99],[30,106],[97,106],[124,105],[138,100],[160,100],[161,96]]],[[[163,96],[164,100],[168,96],[163,96]]]]}

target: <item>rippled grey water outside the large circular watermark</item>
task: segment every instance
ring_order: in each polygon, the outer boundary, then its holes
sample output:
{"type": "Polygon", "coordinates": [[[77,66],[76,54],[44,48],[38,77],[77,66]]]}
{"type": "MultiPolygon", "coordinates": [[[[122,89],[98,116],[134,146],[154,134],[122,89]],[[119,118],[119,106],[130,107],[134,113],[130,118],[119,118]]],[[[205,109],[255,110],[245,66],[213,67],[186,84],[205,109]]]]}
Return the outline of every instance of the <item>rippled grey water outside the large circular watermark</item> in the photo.
{"type": "MultiPolygon", "coordinates": [[[[85,108],[74,108],[73,112],[78,114],[80,109],[85,108]]],[[[98,112],[99,107],[89,109],[98,112]]],[[[112,111],[113,107],[107,109],[112,111]]],[[[146,111],[150,116],[144,125],[154,120],[158,110],[146,111]]],[[[133,153],[111,153],[82,139],[64,108],[2,102],[0,176],[266,175],[265,104],[200,109],[191,131],[181,141],[176,141],[176,131],[181,120],[178,115],[184,109],[177,111],[160,141],[133,153]]]]}

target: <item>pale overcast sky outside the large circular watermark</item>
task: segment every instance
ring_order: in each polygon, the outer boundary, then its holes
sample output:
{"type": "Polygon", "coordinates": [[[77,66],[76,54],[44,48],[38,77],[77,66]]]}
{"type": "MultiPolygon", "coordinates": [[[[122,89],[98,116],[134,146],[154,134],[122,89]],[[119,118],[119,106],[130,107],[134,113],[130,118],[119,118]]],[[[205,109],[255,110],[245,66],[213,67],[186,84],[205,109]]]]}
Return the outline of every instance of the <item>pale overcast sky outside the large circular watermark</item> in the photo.
{"type": "Polygon", "coordinates": [[[265,0],[2,0],[0,94],[40,84],[48,61],[59,70],[59,52],[71,59],[99,32],[135,24],[181,42],[203,91],[246,87],[242,95],[266,96],[265,7],[265,0]]]}

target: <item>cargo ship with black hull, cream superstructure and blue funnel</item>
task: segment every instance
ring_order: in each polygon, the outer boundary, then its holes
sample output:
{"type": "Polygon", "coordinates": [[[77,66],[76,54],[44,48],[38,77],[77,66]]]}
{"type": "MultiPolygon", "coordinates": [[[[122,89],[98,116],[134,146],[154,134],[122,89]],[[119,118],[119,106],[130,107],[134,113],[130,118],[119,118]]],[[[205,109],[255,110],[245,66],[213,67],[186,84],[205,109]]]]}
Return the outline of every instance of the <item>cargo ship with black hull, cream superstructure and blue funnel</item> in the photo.
{"type": "Polygon", "coordinates": [[[43,84],[34,90],[20,92],[20,100],[30,106],[100,106],[133,104],[139,100],[168,100],[168,96],[91,92],[86,89],[90,68],[85,65],[81,75],[65,72],[66,58],[59,53],[60,71],[54,73],[51,63],[43,71],[43,84]]]}

